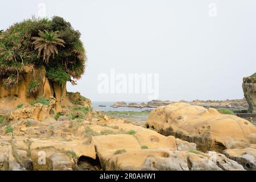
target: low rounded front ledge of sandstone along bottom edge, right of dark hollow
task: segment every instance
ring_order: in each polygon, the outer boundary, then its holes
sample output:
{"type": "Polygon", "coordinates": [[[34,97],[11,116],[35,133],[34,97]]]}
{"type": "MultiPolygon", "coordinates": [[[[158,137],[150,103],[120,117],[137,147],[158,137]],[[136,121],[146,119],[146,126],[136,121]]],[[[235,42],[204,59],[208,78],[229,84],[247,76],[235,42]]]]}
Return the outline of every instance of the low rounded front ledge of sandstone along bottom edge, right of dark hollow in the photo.
{"type": "Polygon", "coordinates": [[[219,155],[221,154],[216,155],[217,160],[215,160],[212,155],[204,154],[203,152],[195,154],[191,151],[171,151],[167,148],[128,151],[110,157],[106,170],[244,170],[237,162],[226,158],[224,155],[221,155],[221,157],[219,155]]]}

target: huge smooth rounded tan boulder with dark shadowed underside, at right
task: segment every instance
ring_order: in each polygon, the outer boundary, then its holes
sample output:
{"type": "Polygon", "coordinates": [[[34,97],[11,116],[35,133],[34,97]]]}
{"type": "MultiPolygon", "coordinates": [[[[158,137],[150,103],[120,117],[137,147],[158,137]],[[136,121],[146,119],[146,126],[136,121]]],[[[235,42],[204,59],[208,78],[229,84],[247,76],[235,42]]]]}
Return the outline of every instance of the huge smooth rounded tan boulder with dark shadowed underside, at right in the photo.
{"type": "Polygon", "coordinates": [[[196,143],[201,151],[222,152],[256,143],[256,127],[249,121],[185,103],[158,107],[151,112],[146,125],[166,136],[196,143]]]}

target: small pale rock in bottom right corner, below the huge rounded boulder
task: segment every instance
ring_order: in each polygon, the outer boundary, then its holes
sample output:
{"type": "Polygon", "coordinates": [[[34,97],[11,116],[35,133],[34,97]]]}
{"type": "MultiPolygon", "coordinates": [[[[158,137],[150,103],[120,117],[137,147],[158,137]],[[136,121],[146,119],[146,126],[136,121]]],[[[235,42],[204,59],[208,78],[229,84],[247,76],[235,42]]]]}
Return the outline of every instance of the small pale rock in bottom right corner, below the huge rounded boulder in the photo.
{"type": "Polygon", "coordinates": [[[236,160],[247,170],[256,170],[256,144],[251,144],[247,148],[227,149],[223,154],[236,160]]]}

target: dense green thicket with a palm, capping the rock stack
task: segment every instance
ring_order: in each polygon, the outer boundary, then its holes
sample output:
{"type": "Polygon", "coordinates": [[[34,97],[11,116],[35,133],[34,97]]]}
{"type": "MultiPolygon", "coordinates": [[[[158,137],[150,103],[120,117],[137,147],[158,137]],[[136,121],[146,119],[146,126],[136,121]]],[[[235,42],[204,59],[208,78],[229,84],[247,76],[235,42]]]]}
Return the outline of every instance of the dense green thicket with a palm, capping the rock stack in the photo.
{"type": "Polygon", "coordinates": [[[12,89],[22,79],[23,67],[46,67],[46,76],[61,84],[75,82],[85,72],[86,52],[80,32],[59,16],[32,18],[0,33],[0,76],[12,89]]]}

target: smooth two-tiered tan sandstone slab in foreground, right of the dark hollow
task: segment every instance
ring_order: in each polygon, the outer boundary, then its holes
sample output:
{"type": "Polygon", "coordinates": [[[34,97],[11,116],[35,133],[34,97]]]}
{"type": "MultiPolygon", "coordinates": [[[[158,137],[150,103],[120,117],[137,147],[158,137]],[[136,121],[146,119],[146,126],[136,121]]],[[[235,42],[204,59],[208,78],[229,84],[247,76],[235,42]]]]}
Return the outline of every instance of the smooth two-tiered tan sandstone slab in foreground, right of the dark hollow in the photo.
{"type": "Polygon", "coordinates": [[[193,150],[194,144],[141,130],[135,135],[93,137],[101,166],[105,170],[243,170],[243,167],[217,152],[193,150]],[[126,141],[126,142],[123,142],[126,141]],[[184,149],[177,150],[182,143],[184,149]],[[144,149],[141,146],[147,146],[144,149]]]}

